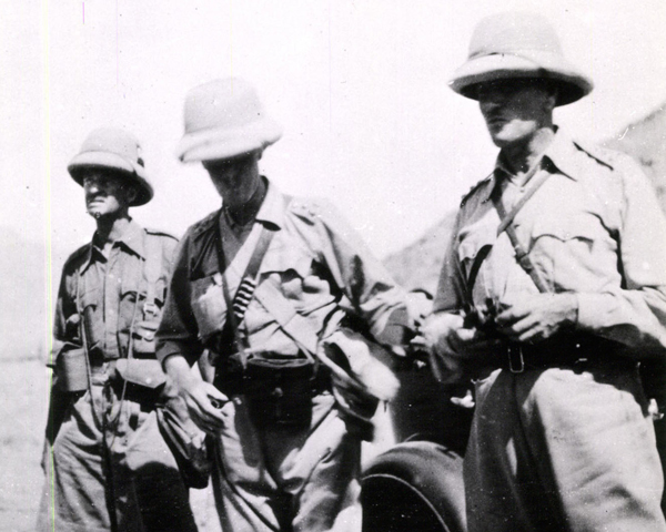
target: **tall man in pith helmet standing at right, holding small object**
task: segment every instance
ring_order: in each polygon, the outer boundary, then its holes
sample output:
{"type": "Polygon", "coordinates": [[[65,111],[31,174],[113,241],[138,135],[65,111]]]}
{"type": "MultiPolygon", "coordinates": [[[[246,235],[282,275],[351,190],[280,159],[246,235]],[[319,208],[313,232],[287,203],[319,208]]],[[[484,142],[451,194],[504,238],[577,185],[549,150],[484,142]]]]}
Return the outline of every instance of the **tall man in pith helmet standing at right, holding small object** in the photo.
{"type": "Polygon", "coordinates": [[[666,356],[666,222],[627,156],[553,110],[592,90],[547,21],[484,19],[451,82],[501,149],[463,200],[423,334],[476,380],[471,532],[664,531],[638,362],[666,356]]]}

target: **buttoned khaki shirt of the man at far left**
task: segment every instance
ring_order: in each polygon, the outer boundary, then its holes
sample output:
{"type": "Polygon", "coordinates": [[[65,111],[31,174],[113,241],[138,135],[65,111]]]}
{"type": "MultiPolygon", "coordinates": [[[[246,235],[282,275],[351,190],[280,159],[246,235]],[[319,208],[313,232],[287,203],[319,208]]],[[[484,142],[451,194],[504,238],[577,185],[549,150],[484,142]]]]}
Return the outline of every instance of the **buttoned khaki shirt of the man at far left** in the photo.
{"type": "Polygon", "coordinates": [[[163,305],[176,239],[159,232],[148,232],[130,222],[123,235],[110,247],[108,256],[95,238],[77,250],[65,263],[58,295],[54,323],[57,355],[62,348],[82,345],[80,323],[85,315],[89,348],[104,359],[128,354],[132,321],[143,319],[147,294],[144,264],[145,239],[161,241],[161,274],[155,286],[157,305],[163,305]],[[148,233],[151,233],[150,236],[148,233]]]}

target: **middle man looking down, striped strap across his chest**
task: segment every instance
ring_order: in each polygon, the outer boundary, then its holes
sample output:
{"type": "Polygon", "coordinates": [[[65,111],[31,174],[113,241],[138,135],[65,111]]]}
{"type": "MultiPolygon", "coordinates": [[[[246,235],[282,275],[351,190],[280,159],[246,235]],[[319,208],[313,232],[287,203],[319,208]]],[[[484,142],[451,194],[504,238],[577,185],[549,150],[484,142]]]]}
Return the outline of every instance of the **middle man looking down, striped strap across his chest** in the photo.
{"type": "Polygon", "coordinates": [[[222,208],[180,244],[158,357],[214,440],[222,530],[359,531],[367,392],[389,398],[395,379],[347,321],[400,345],[405,294],[325,202],[260,174],[280,136],[242,80],[188,94],[180,158],[203,164],[222,208]],[[195,361],[215,386],[192,377],[195,361]]]}

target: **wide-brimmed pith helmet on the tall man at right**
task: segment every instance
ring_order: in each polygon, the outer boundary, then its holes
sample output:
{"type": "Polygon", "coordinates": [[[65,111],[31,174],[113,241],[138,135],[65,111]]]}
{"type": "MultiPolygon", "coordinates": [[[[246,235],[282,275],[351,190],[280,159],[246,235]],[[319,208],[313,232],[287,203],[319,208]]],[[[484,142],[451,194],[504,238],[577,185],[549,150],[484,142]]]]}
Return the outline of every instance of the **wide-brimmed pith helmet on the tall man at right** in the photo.
{"type": "Polygon", "coordinates": [[[463,96],[477,100],[476,85],[513,78],[542,78],[558,86],[556,105],[589,94],[593,83],[563,55],[549,22],[527,12],[506,12],[482,19],[476,25],[467,62],[448,82],[463,96]]]}

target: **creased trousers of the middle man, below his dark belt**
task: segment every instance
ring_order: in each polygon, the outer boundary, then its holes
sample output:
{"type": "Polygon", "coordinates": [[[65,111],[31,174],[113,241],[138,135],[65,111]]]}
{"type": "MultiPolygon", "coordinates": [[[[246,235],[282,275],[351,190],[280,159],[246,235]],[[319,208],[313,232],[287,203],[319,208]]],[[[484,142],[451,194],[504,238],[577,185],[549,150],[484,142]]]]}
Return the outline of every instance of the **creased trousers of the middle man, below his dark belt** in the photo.
{"type": "Polygon", "coordinates": [[[224,532],[360,532],[360,440],[330,393],[309,427],[265,428],[243,396],[228,402],[215,444],[215,522],[224,532]]]}

